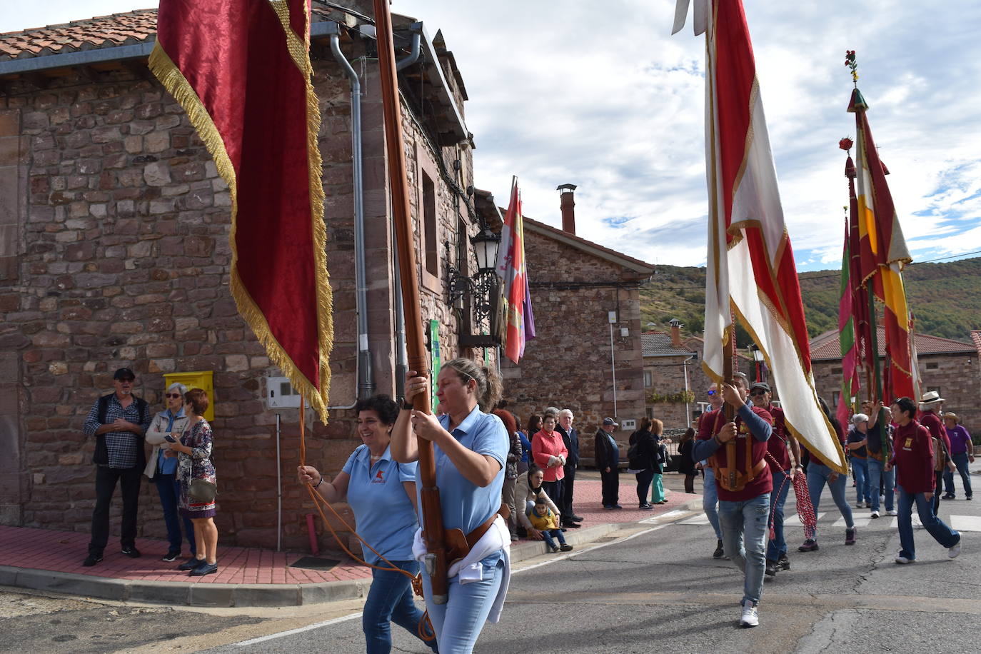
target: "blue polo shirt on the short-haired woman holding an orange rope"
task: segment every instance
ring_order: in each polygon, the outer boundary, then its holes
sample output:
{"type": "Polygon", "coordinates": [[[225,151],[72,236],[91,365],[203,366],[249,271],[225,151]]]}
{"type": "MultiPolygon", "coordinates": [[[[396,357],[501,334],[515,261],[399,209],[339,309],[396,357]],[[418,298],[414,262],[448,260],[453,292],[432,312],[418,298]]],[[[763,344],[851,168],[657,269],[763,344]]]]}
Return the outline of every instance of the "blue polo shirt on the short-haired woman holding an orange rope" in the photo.
{"type": "MultiPolygon", "coordinates": [[[[395,463],[390,448],[371,465],[371,450],[361,445],[344,464],[347,504],[354,512],[358,533],[389,561],[412,561],[412,538],[419,524],[403,481],[416,480],[414,463],[395,463]]],[[[372,565],[378,556],[364,548],[365,561],[372,565]]]]}

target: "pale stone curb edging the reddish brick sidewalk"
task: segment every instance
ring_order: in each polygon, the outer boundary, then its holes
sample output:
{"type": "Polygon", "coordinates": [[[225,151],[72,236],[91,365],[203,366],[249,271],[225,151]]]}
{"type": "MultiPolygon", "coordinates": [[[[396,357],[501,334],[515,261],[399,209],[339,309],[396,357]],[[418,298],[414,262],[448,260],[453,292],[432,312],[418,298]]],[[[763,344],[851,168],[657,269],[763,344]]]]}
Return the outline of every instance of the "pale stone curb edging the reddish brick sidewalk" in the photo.
{"type": "MultiPolygon", "coordinates": [[[[671,511],[700,511],[701,499],[673,507],[671,511]]],[[[668,512],[665,512],[668,513],[668,512]]],[[[665,515],[665,514],[660,514],[665,515]]],[[[656,518],[653,515],[650,518],[656,518]]],[[[646,519],[649,520],[649,519],[646,519]]],[[[642,525],[640,522],[601,523],[565,532],[570,545],[595,542],[611,533],[642,525]]],[[[525,540],[511,545],[511,563],[546,554],[543,541],[525,540]]],[[[208,583],[141,581],[90,577],[74,573],[0,565],[0,586],[45,590],[120,602],[171,604],[197,607],[304,606],[364,597],[371,579],[347,579],[324,583],[208,583]]]]}

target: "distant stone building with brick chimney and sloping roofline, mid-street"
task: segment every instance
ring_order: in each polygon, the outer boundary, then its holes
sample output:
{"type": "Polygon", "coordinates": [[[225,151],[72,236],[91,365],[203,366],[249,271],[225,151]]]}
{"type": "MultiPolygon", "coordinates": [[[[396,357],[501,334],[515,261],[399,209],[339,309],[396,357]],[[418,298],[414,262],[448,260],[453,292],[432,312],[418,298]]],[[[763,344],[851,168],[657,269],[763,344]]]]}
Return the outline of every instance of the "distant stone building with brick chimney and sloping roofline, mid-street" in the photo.
{"type": "Polygon", "coordinates": [[[559,188],[561,229],[525,218],[537,337],[520,364],[502,359],[501,376],[507,408],[522,424],[554,405],[572,409],[580,433],[592,436],[607,416],[621,429],[644,416],[639,289],[654,268],[577,236],[575,186],[559,188]]]}

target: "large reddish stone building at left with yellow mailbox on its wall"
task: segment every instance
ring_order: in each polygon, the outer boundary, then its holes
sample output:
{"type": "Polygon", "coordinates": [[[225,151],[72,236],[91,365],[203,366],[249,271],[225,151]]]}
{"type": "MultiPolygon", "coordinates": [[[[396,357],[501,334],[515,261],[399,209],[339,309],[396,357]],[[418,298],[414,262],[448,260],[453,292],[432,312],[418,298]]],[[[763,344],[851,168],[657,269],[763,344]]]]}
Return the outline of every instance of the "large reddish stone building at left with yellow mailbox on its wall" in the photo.
{"type": "MultiPolygon", "coordinates": [[[[348,2],[370,13],[369,2],[348,2]]],[[[309,431],[307,462],[335,475],[360,443],[353,430],[357,311],[375,392],[394,394],[398,360],[386,154],[374,33],[357,14],[315,8],[314,85],[334,288],[330,424],[309,431]],[[366,303],[355,283],[351,88],[331,52],[362,81],[366,303]]],[[[458,354],[469,307],[446,301],[448,265],[467,271],[479,230],[463,78],[442,37],[393,17],[408,179],[420,253],[423,317],[445,361],[458,354]],[[413,48],[413,42],[417,48],[413,48]]],[[[314,511],[295,481],[296,410],[282,428],[266,402],[279,372],[229,292],[225,182],[181,107],[146,68],[154,10],[0,35],[0,523],[89,528],[93,444],[81,427],[112,372],[137,373],[136,393],[162,408],[166,373],[213,371],[221,539],[305,547],[314,511]],[[282,452],[277,460],[277,452],[282,452]],[[278,500],[282,497],[282,516],[278,500]]],[[[493,353],[490,352],[490,360],[493,353]]],[[[118,526],[119,504],[114,507],[118,526]]],[[[165,533],[156,491],[140,501],[140,535],[165,533]]],[[[118,528],[118,527],[114,527],[118,528]]],[[[323,543],[331,546],[330,536],[323,543]]]]}

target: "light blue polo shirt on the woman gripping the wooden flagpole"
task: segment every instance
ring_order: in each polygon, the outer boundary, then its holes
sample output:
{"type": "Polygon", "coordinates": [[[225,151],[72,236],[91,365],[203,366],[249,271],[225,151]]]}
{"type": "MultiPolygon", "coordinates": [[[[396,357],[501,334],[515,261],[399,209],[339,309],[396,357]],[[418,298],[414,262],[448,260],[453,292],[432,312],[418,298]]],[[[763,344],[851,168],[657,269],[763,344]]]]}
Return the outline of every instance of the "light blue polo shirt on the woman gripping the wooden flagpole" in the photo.
{"type": "MultiPolygon", "coordinates": [[[[448,430],[449,416],[441,416],[439,425],[448,430]]],[[[443,528],[461,529],[464,533],[470,533],[500,509],[504,462],[507,460],[510,443],[507,430],[500,419],[492,414],[482,413],[480,407],[474,407],[470,415],[450,433],[464,447],[478,454],[488,454],[500,464],[497,475],[490,484],[482,488],[463,477],[449,457],[439,449],[439,445],[433,445],[443,528]]],[[[422,479],[417,476],[417,493],[422,486],[422,479]]]]}

